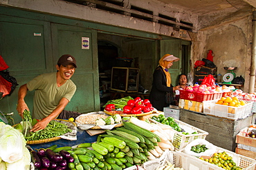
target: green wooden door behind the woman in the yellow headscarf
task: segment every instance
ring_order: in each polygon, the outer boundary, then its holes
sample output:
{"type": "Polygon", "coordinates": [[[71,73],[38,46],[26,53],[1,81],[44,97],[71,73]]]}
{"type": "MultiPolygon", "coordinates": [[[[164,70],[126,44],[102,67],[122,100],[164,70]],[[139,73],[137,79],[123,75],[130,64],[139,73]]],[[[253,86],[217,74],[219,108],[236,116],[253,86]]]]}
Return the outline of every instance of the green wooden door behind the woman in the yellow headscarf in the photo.
{"type": "Polygon", "coordinates": [[[172,67],[170,67],[169,72],[172,78],[172,85],[178,85],[178,76],[181,74],[181,40],[173,39],[173,40],[161,40],[160,41],[160,57],[165,54],[172,54],[178,57],[180,60],[173,63],[172,67]]]}

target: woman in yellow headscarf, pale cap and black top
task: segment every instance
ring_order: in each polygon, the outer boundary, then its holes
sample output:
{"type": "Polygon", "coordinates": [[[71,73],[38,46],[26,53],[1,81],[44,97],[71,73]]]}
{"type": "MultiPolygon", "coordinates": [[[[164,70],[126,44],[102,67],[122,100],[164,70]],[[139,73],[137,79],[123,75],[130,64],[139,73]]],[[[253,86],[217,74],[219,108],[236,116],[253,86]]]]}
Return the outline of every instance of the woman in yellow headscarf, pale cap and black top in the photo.
{"type": "MultiPolygon", "coordinates": [[[[179,89],[179,86],[173,87],[170,72],[168,69],[172,67],[174,61],[179,61],[179,58],[171,54],[165,54],[160,60],[159,65],[154,70],[152,89],[149,94],[150,103],[159,111],[163,111],[163,107],[169,106],[171,103],[165,103],[165,94],[179,89]]],[[[172,98],[173,102],[173,98],[172,98]]]]}

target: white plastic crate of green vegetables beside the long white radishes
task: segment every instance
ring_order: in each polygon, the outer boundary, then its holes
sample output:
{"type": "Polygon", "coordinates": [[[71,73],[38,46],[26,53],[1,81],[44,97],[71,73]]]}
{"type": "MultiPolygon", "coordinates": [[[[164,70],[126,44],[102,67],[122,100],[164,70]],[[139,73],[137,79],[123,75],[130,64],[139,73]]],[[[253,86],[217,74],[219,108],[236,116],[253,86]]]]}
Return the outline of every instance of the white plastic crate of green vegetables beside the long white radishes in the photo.
{"type": "Polygon", "coordinates": [[[154,123],[157,123],[158,125],[163,124],[172,127],[169,133],[170,136],[172,136],[172,145],[174,145],[174,148],[177,151],[183,149],[190,142],[197,138],[205,139],[206,136],[208,136],[207,131],[203,131],[197,127],[188,125],[187,123],[183,123],[182,121],[175,118],[160,117],[159,119],[156,119],[156,117],[152,116],[150,120],[154,123]]]}

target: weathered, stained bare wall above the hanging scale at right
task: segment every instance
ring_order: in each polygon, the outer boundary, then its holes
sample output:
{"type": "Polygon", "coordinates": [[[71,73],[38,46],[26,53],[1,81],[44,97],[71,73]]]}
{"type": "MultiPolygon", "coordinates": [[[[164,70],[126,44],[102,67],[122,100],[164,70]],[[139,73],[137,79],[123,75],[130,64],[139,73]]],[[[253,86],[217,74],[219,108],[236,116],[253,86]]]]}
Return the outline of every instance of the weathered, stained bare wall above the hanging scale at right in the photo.
{"type": "Polygon", "coordinates": [[[199,31],[193,43],[194,60],[206,59],[207,51],[215,54],[214,64],[218,67],[218,74],[226,74],[223,67],[237,67],[237,76],[245,78],[244,92],[248,92],[251,45],[252,45],[252,16],[215,25],[209,29],[199,31]]]}

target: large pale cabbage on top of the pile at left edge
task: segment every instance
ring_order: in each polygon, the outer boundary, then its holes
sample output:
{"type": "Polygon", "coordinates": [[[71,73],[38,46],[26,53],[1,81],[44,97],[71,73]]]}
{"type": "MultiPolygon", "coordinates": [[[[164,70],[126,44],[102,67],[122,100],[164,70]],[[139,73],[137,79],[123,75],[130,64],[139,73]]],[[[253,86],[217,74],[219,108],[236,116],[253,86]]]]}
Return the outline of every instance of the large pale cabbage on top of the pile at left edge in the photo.
{"type": "Polygon", "coordinates": [[[2,125],[0,131],[0,158],[12,163],[24,157],[26,140],[17,129],[10,125],[2,125]]]}

